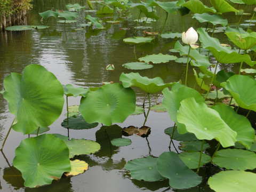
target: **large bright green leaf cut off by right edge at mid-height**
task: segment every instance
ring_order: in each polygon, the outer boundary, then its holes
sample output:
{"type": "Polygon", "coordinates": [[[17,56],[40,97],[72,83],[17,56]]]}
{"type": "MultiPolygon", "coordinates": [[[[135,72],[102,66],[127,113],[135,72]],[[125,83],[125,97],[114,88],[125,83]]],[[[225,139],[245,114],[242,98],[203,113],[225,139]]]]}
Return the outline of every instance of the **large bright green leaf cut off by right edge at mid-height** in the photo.
{"type": "Polygon", "coordinates": [[[228,90],[239,107],[256,111],[256,81],[248,76],[233,75],[221,86],[228,90]]]}

